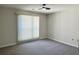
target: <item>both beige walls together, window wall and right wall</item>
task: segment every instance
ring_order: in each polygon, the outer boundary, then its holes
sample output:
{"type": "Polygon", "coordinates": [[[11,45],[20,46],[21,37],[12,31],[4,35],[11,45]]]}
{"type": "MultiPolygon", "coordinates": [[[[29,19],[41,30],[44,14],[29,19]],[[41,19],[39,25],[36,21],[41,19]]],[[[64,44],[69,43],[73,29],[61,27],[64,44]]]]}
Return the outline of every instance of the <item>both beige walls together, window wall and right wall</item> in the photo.
{"type": "Polygon", "coordinates": [[[79,39],[79,7],[69,7],[50,15],[0,7],[0,47],[16,43],[16,12],[40,16],[40,38],[48,38],[77,46],[79,39]],[[74,39],[72,41],[72,39],[74,39]]]}

